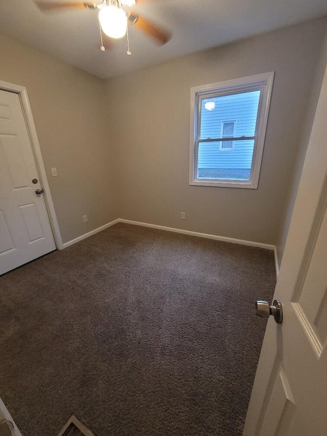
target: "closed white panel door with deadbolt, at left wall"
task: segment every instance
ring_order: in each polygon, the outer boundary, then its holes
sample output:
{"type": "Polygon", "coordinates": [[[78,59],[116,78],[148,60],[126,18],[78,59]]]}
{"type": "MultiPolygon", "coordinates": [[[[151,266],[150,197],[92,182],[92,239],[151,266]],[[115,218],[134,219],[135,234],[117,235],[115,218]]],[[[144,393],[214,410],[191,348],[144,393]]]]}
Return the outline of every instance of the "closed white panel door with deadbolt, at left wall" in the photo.
{"type": "Polygon", "coordinates": [[[0,274],[56,248],[36,189],[41,186],[18,94],[0,90],[0,274]]]}

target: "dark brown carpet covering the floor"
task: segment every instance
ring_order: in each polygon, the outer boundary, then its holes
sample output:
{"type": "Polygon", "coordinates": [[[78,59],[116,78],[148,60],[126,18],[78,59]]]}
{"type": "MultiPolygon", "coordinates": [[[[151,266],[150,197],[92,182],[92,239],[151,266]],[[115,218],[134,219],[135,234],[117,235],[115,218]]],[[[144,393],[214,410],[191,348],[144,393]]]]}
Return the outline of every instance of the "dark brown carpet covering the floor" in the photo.
{"type": "Polygon", "coordinates": [[[0,396],[23,435],[242,434],[273,253],[116,224],[0,278],[0,396]]]}

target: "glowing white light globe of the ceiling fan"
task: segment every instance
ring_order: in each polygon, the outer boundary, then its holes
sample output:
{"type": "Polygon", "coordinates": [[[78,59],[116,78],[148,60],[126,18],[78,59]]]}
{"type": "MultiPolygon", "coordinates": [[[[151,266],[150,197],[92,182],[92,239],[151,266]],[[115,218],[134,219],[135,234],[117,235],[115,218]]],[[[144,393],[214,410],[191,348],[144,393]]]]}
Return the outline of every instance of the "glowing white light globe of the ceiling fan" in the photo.
{"type": "Polygon", "coordinates": [[[126,34],[127,17],[123,9],[104,6],[99,12],[103,32],[111,38],[122,38],[126,34]]]}

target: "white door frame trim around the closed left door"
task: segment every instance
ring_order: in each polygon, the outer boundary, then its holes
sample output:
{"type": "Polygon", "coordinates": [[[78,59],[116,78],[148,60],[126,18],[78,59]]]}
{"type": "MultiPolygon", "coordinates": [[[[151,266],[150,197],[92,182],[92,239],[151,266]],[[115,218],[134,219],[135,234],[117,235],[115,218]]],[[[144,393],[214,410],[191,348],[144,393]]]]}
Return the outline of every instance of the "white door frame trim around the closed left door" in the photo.
{"type": "Polygon", "coordinates": [[[41,182],[41,187],[44,189],[43,196],[45,201],[46,212],[48,212],[48,217],[49,217],[52,233],[55,239],[56,247],[59,250],[62,250],[64,246],[61,239],[59,224],[58,224],[55,207],[50,192],[48,178],[46,177],[40,144],[37,137],[34,119],[32,115],[32,109],[27,95],[27,89],[25,86],[15,85],[13,83],[3,82],[1,80],[0,80],[0,89],[3,91],[10,91],[12,93],[15,93],[19,97],[22,113],[24,114],[27,131],[30,138],[36,169],[41,182]]]}

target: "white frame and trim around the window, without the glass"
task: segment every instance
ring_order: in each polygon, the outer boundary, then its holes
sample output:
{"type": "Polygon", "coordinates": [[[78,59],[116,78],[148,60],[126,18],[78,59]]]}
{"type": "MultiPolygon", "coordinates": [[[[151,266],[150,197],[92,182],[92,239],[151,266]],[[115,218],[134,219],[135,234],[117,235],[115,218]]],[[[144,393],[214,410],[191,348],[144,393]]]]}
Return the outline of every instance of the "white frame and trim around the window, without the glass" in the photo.
{"type": "MultiPolygon", "coordinates": [[[[274,72],[269,72],[191,88],[190,185],[258,189],[273,79],[274,72]],[[260,89],[261,93],[255,133],[254,136],[246,138],[251,140],[254,139],[249,180],[198,178],[198,147],[199,142],[203,142],[203,140],[199,139],[202,99],[217,97],[217,95],[242,93],[243,91],[245,92],[254,89],[260,89]]],[[[222,139],[223,138],[213,138],[208,139],[207,141],[219,142],[219,140],[222,139]]],[[[233,138],[234,141],[237,141],[237,139],[237,137],[233,138]]],[[[245,138],[242,137],[242,139],[245,138]]]]}

